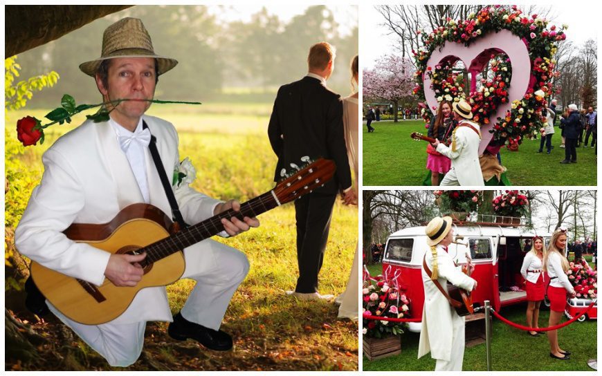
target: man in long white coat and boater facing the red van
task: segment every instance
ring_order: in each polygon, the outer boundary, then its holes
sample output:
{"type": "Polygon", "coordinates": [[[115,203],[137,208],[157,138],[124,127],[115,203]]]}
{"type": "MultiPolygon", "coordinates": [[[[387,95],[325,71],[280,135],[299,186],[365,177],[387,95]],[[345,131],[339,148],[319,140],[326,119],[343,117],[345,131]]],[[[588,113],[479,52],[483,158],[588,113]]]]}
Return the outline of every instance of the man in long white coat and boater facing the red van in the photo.
{"type": "Polygon", "coordinates": [[[447,293],[447,282],[464,290],[477,288],[477,281],[455,266],[447,253],[453,241],[452,219],[435,217],[426,226],[426,243],[430,246],[424,263],[431,276],[422,269],[424,307],[418,345],[418,357],[430,352],[437,359],[435,370],[462,370],[464,359],[464,317],[459,317],[447,298],[433,282],[438,281],[447,293]]]}

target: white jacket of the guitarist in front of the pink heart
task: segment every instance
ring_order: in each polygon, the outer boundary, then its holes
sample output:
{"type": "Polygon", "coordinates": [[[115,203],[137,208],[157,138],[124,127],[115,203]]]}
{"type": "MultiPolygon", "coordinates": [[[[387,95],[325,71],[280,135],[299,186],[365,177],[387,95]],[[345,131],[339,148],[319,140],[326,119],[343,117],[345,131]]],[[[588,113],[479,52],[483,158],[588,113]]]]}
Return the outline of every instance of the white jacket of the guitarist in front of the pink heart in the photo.
{"type": "MultiPolygon", "coordinates": [[[[466,122],[466,120],[462,120],[466,122]]],[[[460,122],[460,124],[462,124],[460,122]]],[[[479,124],[468,122],[479,130],[479,124]]],[[[460,185],[483,185],[483,173],[479,162],[479,135],[468,126],[460,126],[454,133],[456,151],[444,144],[437,146],[437,151],[452,161],[457,180],[460,185]]]]}

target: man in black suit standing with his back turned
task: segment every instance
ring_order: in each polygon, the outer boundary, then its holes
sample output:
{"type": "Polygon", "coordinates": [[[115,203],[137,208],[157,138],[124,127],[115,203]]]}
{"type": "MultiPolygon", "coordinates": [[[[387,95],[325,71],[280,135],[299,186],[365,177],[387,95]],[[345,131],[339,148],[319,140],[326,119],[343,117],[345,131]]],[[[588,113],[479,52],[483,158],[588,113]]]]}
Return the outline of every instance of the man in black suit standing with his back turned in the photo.
{"type": "Polygon", "coordinates": [[[268,136],[278,157],[274,180],[302,164],[307,157],[334,160],[334,178],[295,201],[299,278],[294,292],[299,299],[328,299],[318,294],[318,272],[328,240],[337,192],[354,199],[351,171],[343,135],[343,103],[326,87],[334,68],[334,47],[326,42],[311,46],[309,73],[278,90],[268,136]]]}

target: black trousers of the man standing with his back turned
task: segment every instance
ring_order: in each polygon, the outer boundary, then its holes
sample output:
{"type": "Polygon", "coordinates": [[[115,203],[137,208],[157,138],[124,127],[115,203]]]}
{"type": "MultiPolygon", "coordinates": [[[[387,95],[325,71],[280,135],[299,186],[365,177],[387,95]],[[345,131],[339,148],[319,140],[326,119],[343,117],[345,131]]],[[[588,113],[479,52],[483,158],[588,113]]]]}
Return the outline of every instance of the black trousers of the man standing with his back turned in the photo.
{"type": "Polygon", "coordinates": [[[336,194],[311,193],[295,201],[299,278],[295,292],[318,292],[336,194]]]}

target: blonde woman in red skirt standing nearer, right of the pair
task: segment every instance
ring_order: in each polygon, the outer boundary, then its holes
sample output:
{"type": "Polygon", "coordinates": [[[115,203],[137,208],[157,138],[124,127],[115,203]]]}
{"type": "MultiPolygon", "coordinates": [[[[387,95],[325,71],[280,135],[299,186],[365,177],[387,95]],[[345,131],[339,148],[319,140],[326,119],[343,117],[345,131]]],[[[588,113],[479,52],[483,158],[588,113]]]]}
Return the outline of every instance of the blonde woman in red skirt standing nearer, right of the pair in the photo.
{"type": "MultiPolygon", "coordinates": [[[[563,317],[565,307],[567,306],[567,294],[575,297],[575,289],[569,282],[567,270],[569,270],[569,261],[564,256],[567,245],[567,234],[563,229],[557,229],[549,242],[549,247],[543,258],[543,270],[547,272],[549,286],[547,288],[547,297],[550,301],[549,308],[549,326],[556,326],[563,317]]],[[[549,356],[554,359],[567,360],[570,353],[562,350],[558,346],[558,330],[549,330],[547,332],[549,341],[549,356]]]]}

